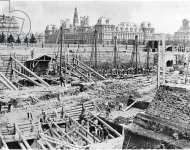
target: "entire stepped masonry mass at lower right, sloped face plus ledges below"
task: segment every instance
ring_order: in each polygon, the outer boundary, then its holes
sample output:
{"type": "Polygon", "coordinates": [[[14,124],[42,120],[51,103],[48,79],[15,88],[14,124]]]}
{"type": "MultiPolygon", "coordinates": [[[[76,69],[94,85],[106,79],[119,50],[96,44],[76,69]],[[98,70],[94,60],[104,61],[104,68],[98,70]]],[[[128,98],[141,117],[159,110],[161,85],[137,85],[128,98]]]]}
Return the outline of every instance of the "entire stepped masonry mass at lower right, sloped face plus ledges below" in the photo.
{"type": "Polygon", "coordinates": [[[142,139],[156,140],[160,145],[164,142],[166,148],[167,145],[174,148],[190,147],[189,97],[187,88],[160,86],[146,112],[135,116],[128,131],[142,139]]]}

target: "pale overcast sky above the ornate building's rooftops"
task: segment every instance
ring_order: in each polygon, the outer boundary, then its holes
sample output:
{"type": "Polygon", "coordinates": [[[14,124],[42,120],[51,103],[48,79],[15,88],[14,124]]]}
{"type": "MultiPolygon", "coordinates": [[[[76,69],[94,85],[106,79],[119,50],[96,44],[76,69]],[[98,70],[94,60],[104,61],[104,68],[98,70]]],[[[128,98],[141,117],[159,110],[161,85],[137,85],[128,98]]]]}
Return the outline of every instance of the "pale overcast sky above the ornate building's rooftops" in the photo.
{"type": "MultiPolygon", "coordinates": [[[[14,9],[27,12],[33,32],[43,32],[47,24],[60,24],[61,19],[73,19],[74,8],[79,16],[89,16],[94,25],[98,17],[110,18],[112,24],[120,22],[150,21],[157,33],[173,33],[183,18],[190,20],[190,1],[18,1],[11,0],[14,9]]],[[[0,0],[1,13],[8,3],[0,0]]]]}

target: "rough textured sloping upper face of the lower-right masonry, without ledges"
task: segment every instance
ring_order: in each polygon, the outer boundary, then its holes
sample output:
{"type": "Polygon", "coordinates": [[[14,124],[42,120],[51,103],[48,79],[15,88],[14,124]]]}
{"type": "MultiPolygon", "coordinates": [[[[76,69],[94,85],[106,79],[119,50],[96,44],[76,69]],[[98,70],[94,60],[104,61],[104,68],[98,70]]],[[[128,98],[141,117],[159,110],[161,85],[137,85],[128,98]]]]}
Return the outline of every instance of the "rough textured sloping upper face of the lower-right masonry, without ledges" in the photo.
{"type": "Polygon", "coordinates": [[[190,92],[183,88],[162,86],[147,109],[147,113],[189,128],[190,92]]]}

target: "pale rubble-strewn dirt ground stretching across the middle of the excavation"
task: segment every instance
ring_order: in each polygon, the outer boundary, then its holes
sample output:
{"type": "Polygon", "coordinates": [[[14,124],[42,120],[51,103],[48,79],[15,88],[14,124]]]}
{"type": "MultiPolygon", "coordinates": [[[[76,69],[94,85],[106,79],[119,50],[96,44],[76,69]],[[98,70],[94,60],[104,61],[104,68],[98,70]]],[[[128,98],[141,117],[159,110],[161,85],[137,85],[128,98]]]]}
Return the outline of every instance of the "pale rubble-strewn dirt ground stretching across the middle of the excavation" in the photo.
{"type": "MultiPolygon", "coordinates": [[[[138,77],[129,80],[105,80],[97,83],[86,84],[87,90],[79,92],[78,87],[60,86],[26,88],[21,91],[2,91],[1,101],[15,101],[15,107],[11,113],[1,114],[4,121],[10,120],[22,122],[26,119],[26,113],[31,110],[34,118],[38,118],[41,110],[48,110],[58,106],[71,106],[85,101],[94,101],[101,109],[105,111],[105,102],[121,102],[124,107],[129,95],[134,99],[150,101],[154,96],[155,81],[153,78],[138,77]],[[142,90],[143,89],[143,90],[142,90]],[[58,98],[60,95],[60,100],[58,98]]],[[[111,118],[119,116],[129,117],[135,115],[140,110],[131,109],[128,112],[116,111],[111,112],[111,118]],[[131,115],[129,115],[131,114],[131,115]]],[[[3,121],[2,120],[2,121],[3,121]]]]}

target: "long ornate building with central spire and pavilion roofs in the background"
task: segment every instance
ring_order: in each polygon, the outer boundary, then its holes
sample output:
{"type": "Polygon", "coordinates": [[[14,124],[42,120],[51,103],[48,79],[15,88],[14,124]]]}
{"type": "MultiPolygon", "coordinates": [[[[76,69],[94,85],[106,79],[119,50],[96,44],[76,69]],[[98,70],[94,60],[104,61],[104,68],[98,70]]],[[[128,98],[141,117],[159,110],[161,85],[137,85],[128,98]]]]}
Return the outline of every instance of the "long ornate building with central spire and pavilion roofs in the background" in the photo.
{"type": "MultiPolygon", "coordinates": [[[[154,28],[151,23],[143,22],[137,25],[130,22],[122,22],[119,25],[110,23],[109,18],[99,17],[94,26],[89,25],[89,17],[78,18],[77,8],[74,11],[73,24],[69,24],[69,19],[62,20],[61,24],[64,28],[64,43],[69,44],[93,44],[95,40],[95,31],[97,31],[97,43],[109,45],[114,43],[114,37],[117,37],[119,44],[127,44],[130,40],[134,40],[138,36],[138,40],[144,43],[153,38],[154,28]]],[[[45,42],[56,43],[59,29],[55,26],[47,26],[45,30],[45,42]]]]}

